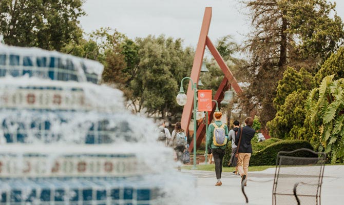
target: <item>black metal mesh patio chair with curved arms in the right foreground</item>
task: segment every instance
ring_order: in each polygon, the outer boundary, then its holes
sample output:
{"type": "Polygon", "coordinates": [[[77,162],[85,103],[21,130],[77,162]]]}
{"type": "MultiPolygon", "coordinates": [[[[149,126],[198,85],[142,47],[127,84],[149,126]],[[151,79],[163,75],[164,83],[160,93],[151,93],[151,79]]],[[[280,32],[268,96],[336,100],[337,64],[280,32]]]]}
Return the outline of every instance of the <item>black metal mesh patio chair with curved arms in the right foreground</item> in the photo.
{"type": "MultiPolygon", "coordinates": [[[[325,161],[326,153],[309,149],[278,152],[272,204],[320,204],[325,161]]],[[[249,199],[244,190],[245,183],[246,180],[243,180],[241,190],[248,203],[249,199]]]]}

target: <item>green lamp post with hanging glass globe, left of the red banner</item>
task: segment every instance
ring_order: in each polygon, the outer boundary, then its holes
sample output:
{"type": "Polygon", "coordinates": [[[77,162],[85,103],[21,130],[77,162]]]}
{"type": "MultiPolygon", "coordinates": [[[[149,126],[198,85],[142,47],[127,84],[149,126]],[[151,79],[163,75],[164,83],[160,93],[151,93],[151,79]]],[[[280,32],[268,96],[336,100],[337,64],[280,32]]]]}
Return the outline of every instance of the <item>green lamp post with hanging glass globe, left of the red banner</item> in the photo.
{"type": "Polygon", "coordinates": [[[177,100],[177,104],[180,106],[184,106],[186,104],[187,101],[187,96],[184,92],[184,88],[183,88],[183,81],[184,79],[189,79],[192,83],[192,89],[194,91],[194,166],[193,169],[197,169],[196,168],[196,129],[197,129],[197,120],[196,120],[196,113],[197,113],[197,84],[193,82],[193,80],[190,77],[184,77],[181,82],[180,82],[180,90],[179,93],[176,97],[177,100]]]}

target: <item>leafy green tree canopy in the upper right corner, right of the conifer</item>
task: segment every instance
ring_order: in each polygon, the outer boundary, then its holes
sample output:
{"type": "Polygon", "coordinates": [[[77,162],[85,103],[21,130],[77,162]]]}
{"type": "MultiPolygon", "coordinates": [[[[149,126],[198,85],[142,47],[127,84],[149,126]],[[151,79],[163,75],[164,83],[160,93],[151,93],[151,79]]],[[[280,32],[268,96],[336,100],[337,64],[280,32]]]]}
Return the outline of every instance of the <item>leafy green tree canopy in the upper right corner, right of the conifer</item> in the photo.
{"type": "Polygon", "coordinates": [[[283,0],[295,49],[295,60],[326,59],[343,41],[343,23],[335,10],[336,4],[326,0],[283,0]],[[333,16],[333,17],[331,17],[333,16]]]}

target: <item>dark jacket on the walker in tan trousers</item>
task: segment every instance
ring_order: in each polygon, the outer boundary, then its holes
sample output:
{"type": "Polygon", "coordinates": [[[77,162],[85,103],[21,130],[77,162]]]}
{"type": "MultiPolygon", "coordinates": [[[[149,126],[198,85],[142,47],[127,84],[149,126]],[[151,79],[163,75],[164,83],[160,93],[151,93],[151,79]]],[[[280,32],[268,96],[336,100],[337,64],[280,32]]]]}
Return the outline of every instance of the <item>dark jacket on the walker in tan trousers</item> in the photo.
{"type": "MultiPolygon", "coordinates": [[[[242,128],[242,136],[239,146],[239,153],[252,153],[251,139],[255,136],[255,130],[250,126],[242,128]]],[[[238,145],[241,128],[239,128],[237,135],[235,136],[235,144],[238,145]]]]}

